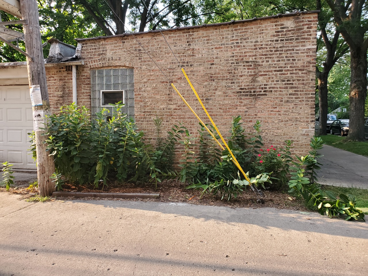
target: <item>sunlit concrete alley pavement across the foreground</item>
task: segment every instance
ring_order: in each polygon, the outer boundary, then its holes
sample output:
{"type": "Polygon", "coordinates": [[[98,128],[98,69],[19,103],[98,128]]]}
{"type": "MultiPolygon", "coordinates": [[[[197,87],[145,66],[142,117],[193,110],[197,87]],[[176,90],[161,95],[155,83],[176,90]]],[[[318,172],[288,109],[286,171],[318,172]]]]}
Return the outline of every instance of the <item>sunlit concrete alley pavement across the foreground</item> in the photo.
{"type": "Polygon", "coordinates": [[[272,208],[28,203],[0,193],[0,275],[368,275],[368,224],[272,208]]]}

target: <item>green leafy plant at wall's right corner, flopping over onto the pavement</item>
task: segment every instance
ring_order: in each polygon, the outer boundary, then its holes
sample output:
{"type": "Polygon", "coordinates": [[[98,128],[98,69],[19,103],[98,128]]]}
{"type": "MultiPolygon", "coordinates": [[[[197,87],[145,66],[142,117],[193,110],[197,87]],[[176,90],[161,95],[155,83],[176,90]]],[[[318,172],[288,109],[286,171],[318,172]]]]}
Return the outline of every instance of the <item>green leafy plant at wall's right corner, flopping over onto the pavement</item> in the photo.
{"type": "Polygon", "coordinates": [[[320,137],[311,139],[312,150],[309,155],[298,157],[298,162],[292,162],[295,167],[290,169],[296,170],[292,172],[289,181],[289,192],[301,195],[305,201],[305,205],[309,208],[317,208],[321,215],[346,216],[346,220],[361,219],[364,220],[364,213],[355,207],[356,198],[354,195],[340,194],[339,199],[330,191],[322,191],[318,185],[314,183],[316,180],[315,171],[320,169],[317,159],[321,155],[317,155],[318,149],[322,148],[323,141],[320,137]]]}

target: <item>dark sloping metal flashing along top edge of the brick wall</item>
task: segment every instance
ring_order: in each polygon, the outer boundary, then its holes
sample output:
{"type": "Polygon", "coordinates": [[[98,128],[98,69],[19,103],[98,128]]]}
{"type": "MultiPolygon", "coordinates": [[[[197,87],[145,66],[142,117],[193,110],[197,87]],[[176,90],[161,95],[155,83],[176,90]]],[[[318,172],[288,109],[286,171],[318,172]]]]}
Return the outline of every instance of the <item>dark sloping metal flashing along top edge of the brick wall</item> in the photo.
{"type": "Polygon", "coordinates": [[[145,32],[122,33],[121,35],[97,36],[97,37],[94,37],[94,38],[76,38],[75,40],[82,41],[82,40],[90,40],[90,39],[104,39],[104,38],[114,38],[114,37],[125,36],[125,35],[140,35],[140,34],[143,34],[143,33],[150,33],[150,32],[164,32],[164,31],[166,32],[166,31],[174,31],[174,30],[181,30],[181,29],[204,28],[204,27],[209,27],[209,26],[230,25],[230,24],[236,24],[236,23],[252,22],[252,21],[256,21],[256,20],[264,20],[264,19],[269,19],[269,18],[290,17],[290,16],[301,15],[301,14],[311,14],[311,13],[319,13],[319,12],[320,12],[320,10],[295,11],[294,13],[286,13],[286,14],[280,14],[279,13],[279,14],[276,14],[276,15],[270,15],[270,16],[259,17],[259,18],[254,17],[254,18],[245,19],[245,20],[231,20],[230,22],[223,22],[223,23],[203,24],[203,25],[185,26],[185,27],[175,27],[175,28],[170,28],[170,29],[150,30],[150,31],[145,31],[145,32]]]}

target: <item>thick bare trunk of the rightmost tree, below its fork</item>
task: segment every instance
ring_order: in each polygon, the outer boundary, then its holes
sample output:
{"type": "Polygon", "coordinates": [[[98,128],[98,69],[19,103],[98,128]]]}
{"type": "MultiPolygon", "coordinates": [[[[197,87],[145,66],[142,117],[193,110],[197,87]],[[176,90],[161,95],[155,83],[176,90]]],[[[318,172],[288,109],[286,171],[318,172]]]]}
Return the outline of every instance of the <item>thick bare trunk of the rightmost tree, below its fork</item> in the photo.
{"type": "Polygon", "coordinates": [[[350,49],[350,124],[347,139],[365,141],[364,104],[367,97],[367,49],[350,49]]]}

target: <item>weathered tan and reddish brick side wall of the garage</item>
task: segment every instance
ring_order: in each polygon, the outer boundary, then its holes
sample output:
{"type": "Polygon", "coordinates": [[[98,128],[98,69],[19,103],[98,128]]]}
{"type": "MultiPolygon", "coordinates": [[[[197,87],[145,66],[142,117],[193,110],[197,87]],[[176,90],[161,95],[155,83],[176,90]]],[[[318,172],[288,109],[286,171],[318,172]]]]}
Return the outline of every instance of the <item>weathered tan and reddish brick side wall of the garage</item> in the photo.
{"type": "MultiPolygon", "coordinates": [[[[232,116],[241,115],[250,131],[256,120],[262,122],[266,145],[291,139],[294,153],[309,150],[314,135],[316,12],[170,29],[163,34],[225,136],[232,116]]],[[[134,36],[197,114],[206,118],[160,32],[134,36]]],[[[197,119],[134,36],[78,39],[85,63],[78,66],[78,104],[91,107],[93,70],[132,68],[138,127],[153,137],[152,118],[159,116],[164,129],[183,121],[197,134],[197,119]]],[[[46,73],[54,111],[65,103],[62,99],[71,99],[71,72],[46,68],[46,73]]]]}

